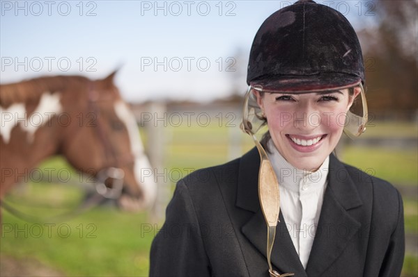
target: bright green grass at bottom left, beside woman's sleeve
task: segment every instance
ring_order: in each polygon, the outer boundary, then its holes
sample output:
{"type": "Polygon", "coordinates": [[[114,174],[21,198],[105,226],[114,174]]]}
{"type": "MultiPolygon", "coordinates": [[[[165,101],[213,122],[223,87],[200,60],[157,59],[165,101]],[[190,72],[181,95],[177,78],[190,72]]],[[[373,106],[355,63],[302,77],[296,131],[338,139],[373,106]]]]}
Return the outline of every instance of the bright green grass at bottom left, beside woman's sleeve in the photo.
{"type": "Polygon", "coordinates": [[[57,223],[28,223],[4,212],[1,255],[36,257],[67,276],[147,276],[158,227],[147,221],[113,208],[57,223]]]}

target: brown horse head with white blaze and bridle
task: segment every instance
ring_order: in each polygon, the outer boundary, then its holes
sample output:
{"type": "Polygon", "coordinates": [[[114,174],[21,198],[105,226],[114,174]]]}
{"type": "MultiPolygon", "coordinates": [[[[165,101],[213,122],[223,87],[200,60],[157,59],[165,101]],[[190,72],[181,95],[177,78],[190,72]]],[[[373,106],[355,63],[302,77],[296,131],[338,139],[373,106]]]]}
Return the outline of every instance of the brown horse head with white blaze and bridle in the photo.
{"type": "Polygon", "coordinates": [[[157,187],[144,178],[150,162],[134,115],[114,85],[115,75],[88,82],[79,99],[68,100],[75,120],[64,131],[61,152],[72,166],[102,182],[101,194],[117,199],[125,210],[139,210],[154,203],[157,187]]]}

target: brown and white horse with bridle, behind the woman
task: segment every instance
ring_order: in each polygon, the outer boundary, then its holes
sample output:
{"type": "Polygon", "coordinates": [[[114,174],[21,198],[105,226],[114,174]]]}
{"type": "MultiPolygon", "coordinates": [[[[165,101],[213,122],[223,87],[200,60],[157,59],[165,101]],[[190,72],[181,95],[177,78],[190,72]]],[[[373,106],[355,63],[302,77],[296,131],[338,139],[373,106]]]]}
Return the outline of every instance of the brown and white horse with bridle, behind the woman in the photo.
{"type": "Polygon", "coordinates": [[[134,115],[114,85],[115,74],[97,81],[52,76],[0,85],[0,199],[41,160],[58,154],[95,176],[118,169],[117,176],[104,177],[104,192],[112,190],[109,180],[123,176],[121,208],[153,205],[157,186],[153,178],[141,178],[144,169],[149,176],[150,162],[134,115]]]}

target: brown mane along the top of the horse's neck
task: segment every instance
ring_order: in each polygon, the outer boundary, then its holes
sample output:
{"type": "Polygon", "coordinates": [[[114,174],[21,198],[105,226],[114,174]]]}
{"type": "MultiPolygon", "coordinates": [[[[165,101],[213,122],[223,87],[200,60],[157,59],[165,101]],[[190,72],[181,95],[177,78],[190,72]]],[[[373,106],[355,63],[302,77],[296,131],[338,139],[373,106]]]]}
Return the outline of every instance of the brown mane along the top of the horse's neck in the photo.
{"type": "Polygon", "coordinates": [[[44,92],[64,91],[70,85],[79,86],[88,81],[89,79],[83,76],[47,76],[1,84],[0,106],[7,108],[13,103],[35,101],[44,92]]]}

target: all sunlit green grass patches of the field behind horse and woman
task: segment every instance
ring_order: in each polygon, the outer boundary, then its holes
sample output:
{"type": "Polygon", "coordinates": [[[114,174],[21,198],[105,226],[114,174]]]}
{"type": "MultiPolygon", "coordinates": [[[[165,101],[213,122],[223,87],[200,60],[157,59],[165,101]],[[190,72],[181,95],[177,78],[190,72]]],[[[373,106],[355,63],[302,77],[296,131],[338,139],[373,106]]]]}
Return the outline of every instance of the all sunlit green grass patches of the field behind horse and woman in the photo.
{"type": "MultiPolygon", "coordinates": [[[[398,131],[411,134],[410,128],[404,126],[398,131]]],[[[387,133],[375,131],[379,132],[387,133]]],[[[142,135],[144,137],[144,133],[142,135]]],[[[191,169],[233,158],[228,144],[230,128],[180,126],[167,128],[166,135],[164,151],[168,170],[179,169],[186,174],[191,169]]],[[[253,147],[245,135],[235,143],[238,143],[240,153],[253,147]]],[[[373,169],[374,175],[394,184],[417,185],[417,149],[353,145],[338,153],[341,160],[360,169],[373,169]]],[[[40,168],[52,167],[63,169],[68,165],[58,157],[45,161],[40,168]]],[[[167,184],[160,185],[173,187],[174,181],[169,178],[167,184]]],[[[24,212],[46,218],[71,210],[82,196],[79,187],[31,183],[22,191],[15,190],[7,199],[24,212]]],[[[404,202],[406,231],[418,235],[417,199],[407,196],[404,202]]],[[[35,258],[66,276],[148,276],[150,244],[161,226],[161,222],[153,223],[145,213],[123,213],[112,206],[93,208],[72,219],[54,223],[26,222],[3,211],[0,255],[17,260],[35,258]]],[[[417,264],[417,257],[407,254],[403,276],[418,276],[417,264]]]]}

